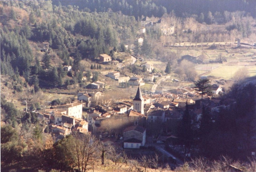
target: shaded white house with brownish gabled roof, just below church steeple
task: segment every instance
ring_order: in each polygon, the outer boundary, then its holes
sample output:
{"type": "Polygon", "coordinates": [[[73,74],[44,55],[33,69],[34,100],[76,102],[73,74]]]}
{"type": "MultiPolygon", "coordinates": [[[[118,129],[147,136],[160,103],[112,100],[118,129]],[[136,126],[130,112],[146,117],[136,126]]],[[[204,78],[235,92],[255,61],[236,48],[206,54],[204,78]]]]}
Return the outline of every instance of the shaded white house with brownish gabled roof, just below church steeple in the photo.
{"type": "Polygon", "coordinates": [[[123,131],[124,148],[136,148],[146,143],[146,128],[141,126],[127,127],[123,131]]]}

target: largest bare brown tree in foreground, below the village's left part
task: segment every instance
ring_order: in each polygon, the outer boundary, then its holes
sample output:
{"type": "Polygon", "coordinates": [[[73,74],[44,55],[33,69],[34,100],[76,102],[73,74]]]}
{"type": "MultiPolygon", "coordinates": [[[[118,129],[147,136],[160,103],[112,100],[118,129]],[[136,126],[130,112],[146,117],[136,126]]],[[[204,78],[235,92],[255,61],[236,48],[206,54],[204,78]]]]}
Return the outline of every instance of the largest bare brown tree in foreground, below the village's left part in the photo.
{"type": "Polygon", "coordinates": [[[99,157],[99,141],[88,134],[75,133],[75,158],[79,171],[85,172],[99,157]]]}

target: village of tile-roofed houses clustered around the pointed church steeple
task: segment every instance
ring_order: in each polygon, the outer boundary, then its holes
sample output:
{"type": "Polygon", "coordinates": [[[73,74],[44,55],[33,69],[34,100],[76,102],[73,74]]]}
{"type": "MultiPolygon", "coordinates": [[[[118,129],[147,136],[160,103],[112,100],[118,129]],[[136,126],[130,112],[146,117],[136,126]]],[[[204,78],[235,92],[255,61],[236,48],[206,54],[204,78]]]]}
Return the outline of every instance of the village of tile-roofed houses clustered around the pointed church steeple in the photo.
{"type": "MultiPolygon", "coordinates": [[[[135,61],[140,60],[137,57],[132,58],[135,58],[135,61]]],[[[99,55],[99,63],[102,66],[112,62],[107,54],[99,55]]],[[[120,72],[113,71],[105,75],[119,85],[121,83],[123,86],[136,88],[136,94],[133,93],[135,97],[132,99],[111,103],[104,101],[102,90],[105,89],[105,83],[95,81],[77,92],[77,100],[49,106],[48,109],[38,112],[38,118],[44,121],[45,128],[49,128],[55,141],[74,132],[92,134],[106,146],[116,145],[128,150],[154,146],[170,157],[174,166],[177,163],[182,164],[184,158],[196,156],[199,152],[198,147],[186,151],[180,146],[181,141],[177,136],[177,127],[186,107],[192,117],[193,126],[199,129],[203,107],[210,111],[211,120],[214,122],[220,109],[228,109],[235,101],[221,102],[218,97],[223,91],[217,84],[211,86],[209,95],[202,94],[193,87],[155,92],[155,78],[170,79],[170,76],[152,73],[154,65],[150,62],[142,62],[142,67],[146,68],[148,74],[130,77],[120,76],[120,72]],[[153,87],[147,91],[145,89],[143,93],[141,88],[145,83],[153,83],[153,87]]],[[[200,79],[206,80],[207,76],[201,76],[200,79]]],[[[179,82],[177,79],[171,80],[174,83],[179,82]]]]}

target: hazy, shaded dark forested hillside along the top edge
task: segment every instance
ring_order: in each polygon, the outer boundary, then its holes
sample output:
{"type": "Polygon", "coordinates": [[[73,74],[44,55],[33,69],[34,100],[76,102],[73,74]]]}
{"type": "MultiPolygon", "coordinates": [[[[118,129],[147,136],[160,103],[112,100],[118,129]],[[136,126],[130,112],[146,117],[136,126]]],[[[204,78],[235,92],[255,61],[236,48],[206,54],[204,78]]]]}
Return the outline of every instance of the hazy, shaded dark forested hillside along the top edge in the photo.
{"type": "Polygon", "coordinates": [[[177,17],[192,15],[207,16],[208,12],[246,11],[256,16],[255,3],[249,0],[86,0],[86,1],[53,1],[54,5],[75,5],[87,12],[121,11],[125,15],[162,17],[164,13],[174,13],[177,17]]]}

